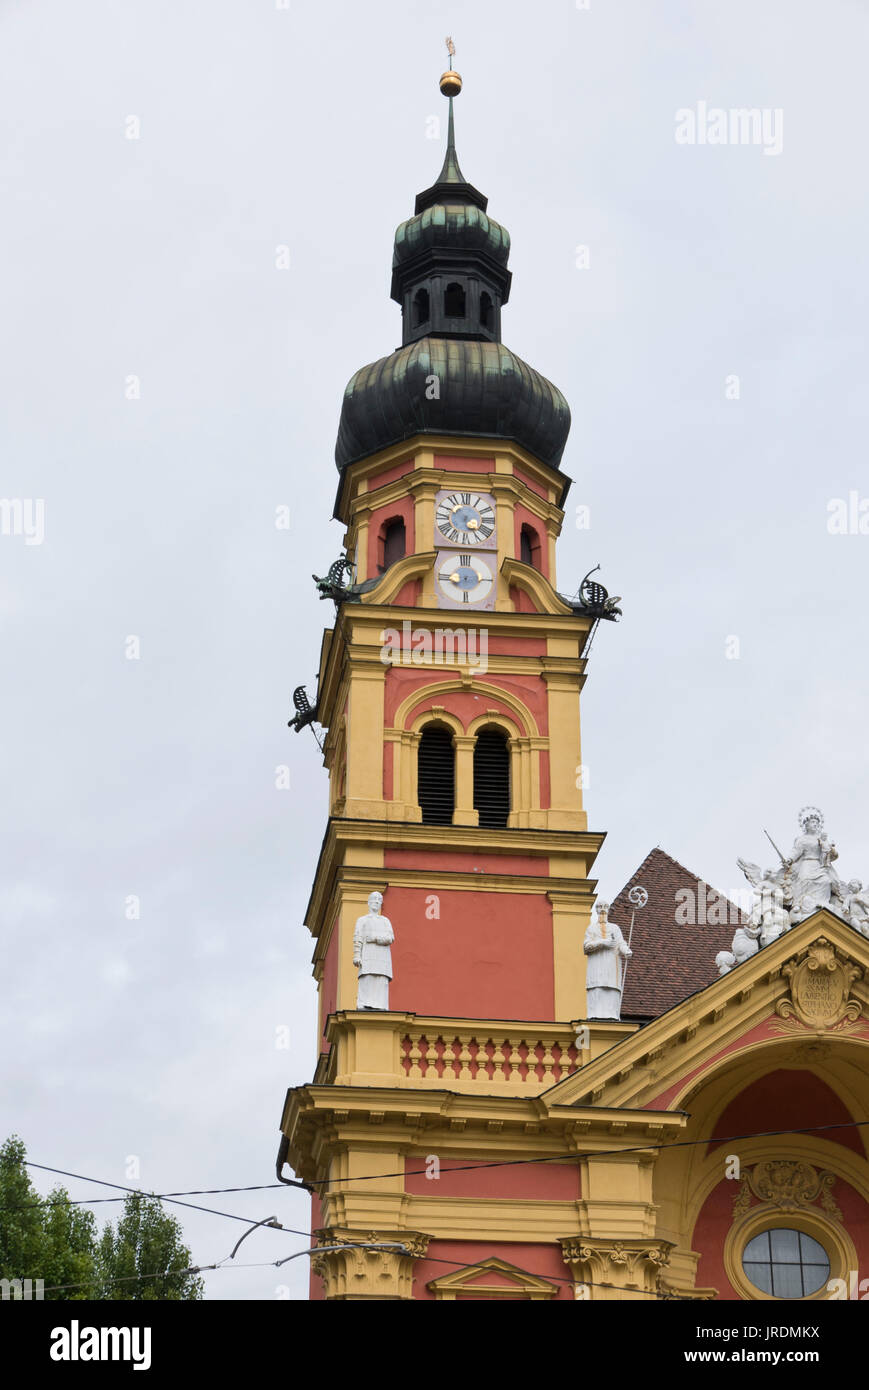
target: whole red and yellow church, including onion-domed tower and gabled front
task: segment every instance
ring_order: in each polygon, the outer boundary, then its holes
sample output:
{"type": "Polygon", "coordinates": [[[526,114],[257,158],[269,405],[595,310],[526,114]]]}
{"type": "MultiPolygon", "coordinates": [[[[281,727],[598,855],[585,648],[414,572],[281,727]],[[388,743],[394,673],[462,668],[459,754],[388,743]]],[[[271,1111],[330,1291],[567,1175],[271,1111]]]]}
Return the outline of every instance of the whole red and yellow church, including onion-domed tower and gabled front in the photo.
{"type": "Polygon", "coordinates": [[[556,587],[570,413],[502,342],[509,235],[459,167],[457,74],[442,90],[321,581],[320,1059],[279,1154],[314,1193],[311,1297],[869,1297],[869,941],[834,905],[716,979],[733,927],[680,924],[701,880],[652,852],[612,909],[627,934],[644,885],[622,1017],[587,1017],[580,695],[619,610],[556,587]]]}

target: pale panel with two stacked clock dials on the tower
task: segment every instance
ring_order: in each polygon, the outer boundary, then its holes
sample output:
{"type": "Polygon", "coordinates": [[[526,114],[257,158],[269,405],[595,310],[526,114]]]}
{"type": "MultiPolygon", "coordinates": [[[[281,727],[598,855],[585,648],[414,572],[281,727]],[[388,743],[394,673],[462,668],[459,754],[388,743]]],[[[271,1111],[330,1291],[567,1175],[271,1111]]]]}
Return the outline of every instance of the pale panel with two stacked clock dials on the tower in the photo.
{"type": "Polygon", "coordinates": [[[438,492],[435,594],[439,607],[495,607],[496,545],[495,499],[488,492],[438,492]]]}

